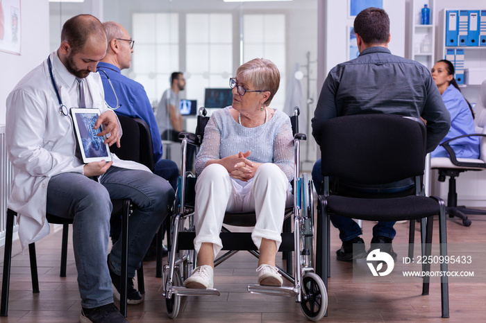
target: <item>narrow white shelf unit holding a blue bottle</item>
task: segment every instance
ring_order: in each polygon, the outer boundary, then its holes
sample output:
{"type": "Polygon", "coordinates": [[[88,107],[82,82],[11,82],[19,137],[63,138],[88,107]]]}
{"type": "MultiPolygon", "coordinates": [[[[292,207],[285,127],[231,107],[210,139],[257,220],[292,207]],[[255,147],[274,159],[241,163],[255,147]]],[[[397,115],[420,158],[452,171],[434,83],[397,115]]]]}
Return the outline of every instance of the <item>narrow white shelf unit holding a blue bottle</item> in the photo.
{"type": "Polygon", "coordinates": [[[410,1],[410,26],[411,32],[408,44],[408,57],[424,64],[431,69],[435,63],[435,0],[412,0],[410,1]],[[421,10],[427,4],[430,8],[430,21],[428,25],[421,24],[421,10]],[[428,46],[424,45],[424,39],[429,38],[428,46]],[[426,48],[428,47],[428,48],[426,48]]]}

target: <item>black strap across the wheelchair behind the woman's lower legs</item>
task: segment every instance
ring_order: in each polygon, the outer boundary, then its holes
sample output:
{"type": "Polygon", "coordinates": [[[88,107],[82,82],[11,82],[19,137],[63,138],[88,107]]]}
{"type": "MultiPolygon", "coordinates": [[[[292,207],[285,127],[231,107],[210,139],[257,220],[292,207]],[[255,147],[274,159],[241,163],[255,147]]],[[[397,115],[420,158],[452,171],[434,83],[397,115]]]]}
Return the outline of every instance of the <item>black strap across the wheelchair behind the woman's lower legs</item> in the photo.
{"type": "MultiPolygon", "coordinates": [[[[278,251],[294,251],[294,234],[292,232],[283,232],[282,243],[278,251]]],[[[221,232],[219,234],[223,241],[223,250],[258,250],[249,232],[221,232]]],[[[178,233],[178,250],[194,250],[195,232],[178,233]]]]}

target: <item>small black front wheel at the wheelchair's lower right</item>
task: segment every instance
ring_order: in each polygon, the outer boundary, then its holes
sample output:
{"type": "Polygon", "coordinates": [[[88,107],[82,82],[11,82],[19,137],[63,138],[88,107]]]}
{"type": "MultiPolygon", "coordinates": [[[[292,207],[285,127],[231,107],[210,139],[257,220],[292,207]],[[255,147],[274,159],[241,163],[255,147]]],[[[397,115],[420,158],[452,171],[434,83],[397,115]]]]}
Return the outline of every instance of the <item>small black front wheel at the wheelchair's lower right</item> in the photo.
{"type": "Polygon", "coordinates": [[[301,308],[304,315],[311,321],[319,321],[328,308],[328,293],[321,277],[314,272],[308,272],[302,279],[303,295],[301,308]]]}

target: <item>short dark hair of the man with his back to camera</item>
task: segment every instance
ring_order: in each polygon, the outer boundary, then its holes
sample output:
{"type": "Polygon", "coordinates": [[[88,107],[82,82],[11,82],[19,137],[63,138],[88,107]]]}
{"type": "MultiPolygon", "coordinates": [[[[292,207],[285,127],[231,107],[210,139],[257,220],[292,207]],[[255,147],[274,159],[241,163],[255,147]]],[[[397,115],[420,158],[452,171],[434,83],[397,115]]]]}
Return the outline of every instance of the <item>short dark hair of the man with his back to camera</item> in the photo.
{"type": "Polygon", "coordinates": [[[366,8],[354,19],[354,32],[366,44],[385,44],[389,37],[389,17],[380,8],[366,8]]]}

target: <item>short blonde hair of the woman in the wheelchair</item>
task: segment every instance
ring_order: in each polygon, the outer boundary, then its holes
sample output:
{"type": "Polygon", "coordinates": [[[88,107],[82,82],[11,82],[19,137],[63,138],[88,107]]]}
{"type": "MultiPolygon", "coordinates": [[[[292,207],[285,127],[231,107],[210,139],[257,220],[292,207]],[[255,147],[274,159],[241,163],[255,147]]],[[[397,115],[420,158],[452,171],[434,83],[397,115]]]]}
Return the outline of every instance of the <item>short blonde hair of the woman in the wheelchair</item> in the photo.
{"type": "Polygon", "coordinates": [[[255,87],[256,90],[269,91],[270,96],[265,101],[268,106],[274,98],[280,85],[280,72],[271,60],[265,58],[255,58],[238,67],[236,75],[240,76],[255,87]]]}

